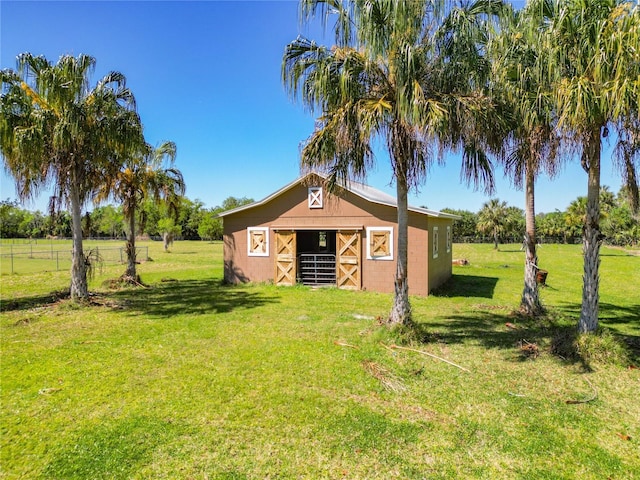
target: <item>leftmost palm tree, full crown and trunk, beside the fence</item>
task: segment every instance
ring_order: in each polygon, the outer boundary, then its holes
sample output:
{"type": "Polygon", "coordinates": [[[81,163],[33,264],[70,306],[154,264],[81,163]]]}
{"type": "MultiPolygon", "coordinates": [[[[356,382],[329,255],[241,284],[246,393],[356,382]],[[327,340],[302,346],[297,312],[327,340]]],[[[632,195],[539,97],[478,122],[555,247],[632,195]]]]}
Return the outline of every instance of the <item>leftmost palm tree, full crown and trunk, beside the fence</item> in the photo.
{"type": "Polygon", "coordinates": [[[95,63],[88,55],[65,55],[54,65],[24,53],[17,72],[2,72],[4,164],[21,198],[52,186],[52,206],[70,208],[74,300],[88,296],[82,206],[142,138],[134,97],[121,73],[111,72],[89,88],[95,63]]]}

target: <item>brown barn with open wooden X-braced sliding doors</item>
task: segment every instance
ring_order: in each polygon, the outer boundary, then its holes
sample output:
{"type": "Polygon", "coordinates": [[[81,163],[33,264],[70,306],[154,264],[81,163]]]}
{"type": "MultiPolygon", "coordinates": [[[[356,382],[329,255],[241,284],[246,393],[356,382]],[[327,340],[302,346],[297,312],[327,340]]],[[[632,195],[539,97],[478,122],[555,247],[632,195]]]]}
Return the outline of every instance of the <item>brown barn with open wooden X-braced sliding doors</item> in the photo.
{"type": "MultiPolygon", "coordinates": [[[[329,194],[304,175],[258,202],[220,213],[229,283],[326,285],[393,292],[396,199],[357,182],[329,194]]],[[[451,277],[458,217],[409,207],[409,291],[428,295],[451,277]]]]}

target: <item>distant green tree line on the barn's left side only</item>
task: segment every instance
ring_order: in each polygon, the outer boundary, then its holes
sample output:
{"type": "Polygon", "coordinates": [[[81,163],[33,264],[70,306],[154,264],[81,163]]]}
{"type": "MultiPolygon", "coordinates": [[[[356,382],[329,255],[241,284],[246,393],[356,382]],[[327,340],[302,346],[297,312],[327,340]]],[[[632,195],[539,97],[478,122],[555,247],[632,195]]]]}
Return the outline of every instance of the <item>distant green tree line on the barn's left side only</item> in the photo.
{"type": "MultiPolygon", "coordinates": [[[[222,240],[222,219],[217,214],[236,208],[253,199],[228,197],[221,205],[206,208],[200,200],[181,197],[178,214],[174,220],[167,215],[166,206],[151,200],[142,203],[137,218],[139,236],[160,240],[163,233],[171,231],[174,237],[184,240],[222,240]]],[[[128,228],[122,206],[103,205],[87,211],[82,216],[85,238],[122,239],[128,228]]],[[[45,214],[20,207],[9,199],[0,202],[0,237],[2,238],[69,238],[71,217],[66,211],[45,214]]]]}

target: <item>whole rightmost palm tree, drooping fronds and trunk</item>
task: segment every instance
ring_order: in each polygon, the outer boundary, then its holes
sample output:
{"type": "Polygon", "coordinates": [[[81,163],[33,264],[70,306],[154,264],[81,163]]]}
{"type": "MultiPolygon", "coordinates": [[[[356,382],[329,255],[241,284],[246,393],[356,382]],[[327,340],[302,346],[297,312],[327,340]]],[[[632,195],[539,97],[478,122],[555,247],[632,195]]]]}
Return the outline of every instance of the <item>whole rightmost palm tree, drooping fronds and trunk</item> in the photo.
{"type": "Polygon", "coordinates": [[[637,126],[640,6],[620,0],[558,2],[551,23],[558,126],[571,137],[587,173],[584,276],[578,330],[598,328],[602,139],[637,126]]]}

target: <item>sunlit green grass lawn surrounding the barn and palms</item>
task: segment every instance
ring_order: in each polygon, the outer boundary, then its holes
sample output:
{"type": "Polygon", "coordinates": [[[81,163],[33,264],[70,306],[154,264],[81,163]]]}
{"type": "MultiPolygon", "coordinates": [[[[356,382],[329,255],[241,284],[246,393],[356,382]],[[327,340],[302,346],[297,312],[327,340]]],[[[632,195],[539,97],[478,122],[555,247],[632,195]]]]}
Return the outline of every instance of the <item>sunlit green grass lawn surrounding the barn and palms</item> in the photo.
{"type": "Polygon", "coordinates": [[[580,246],[540,250],[531,321],[519,246],[455,245],[470,265],[412,298],[410,347],[467,372],[385,348],[390,295],[225,286],[220,243],[143,245],[148,288],[103,287],[110,265],[90,306],[58,300],[67,271],[2,276],[0,477],[640,479],[638,256],[602,249],[601,324],[630,353],[590,362],[551,353],[580,246]]]}

